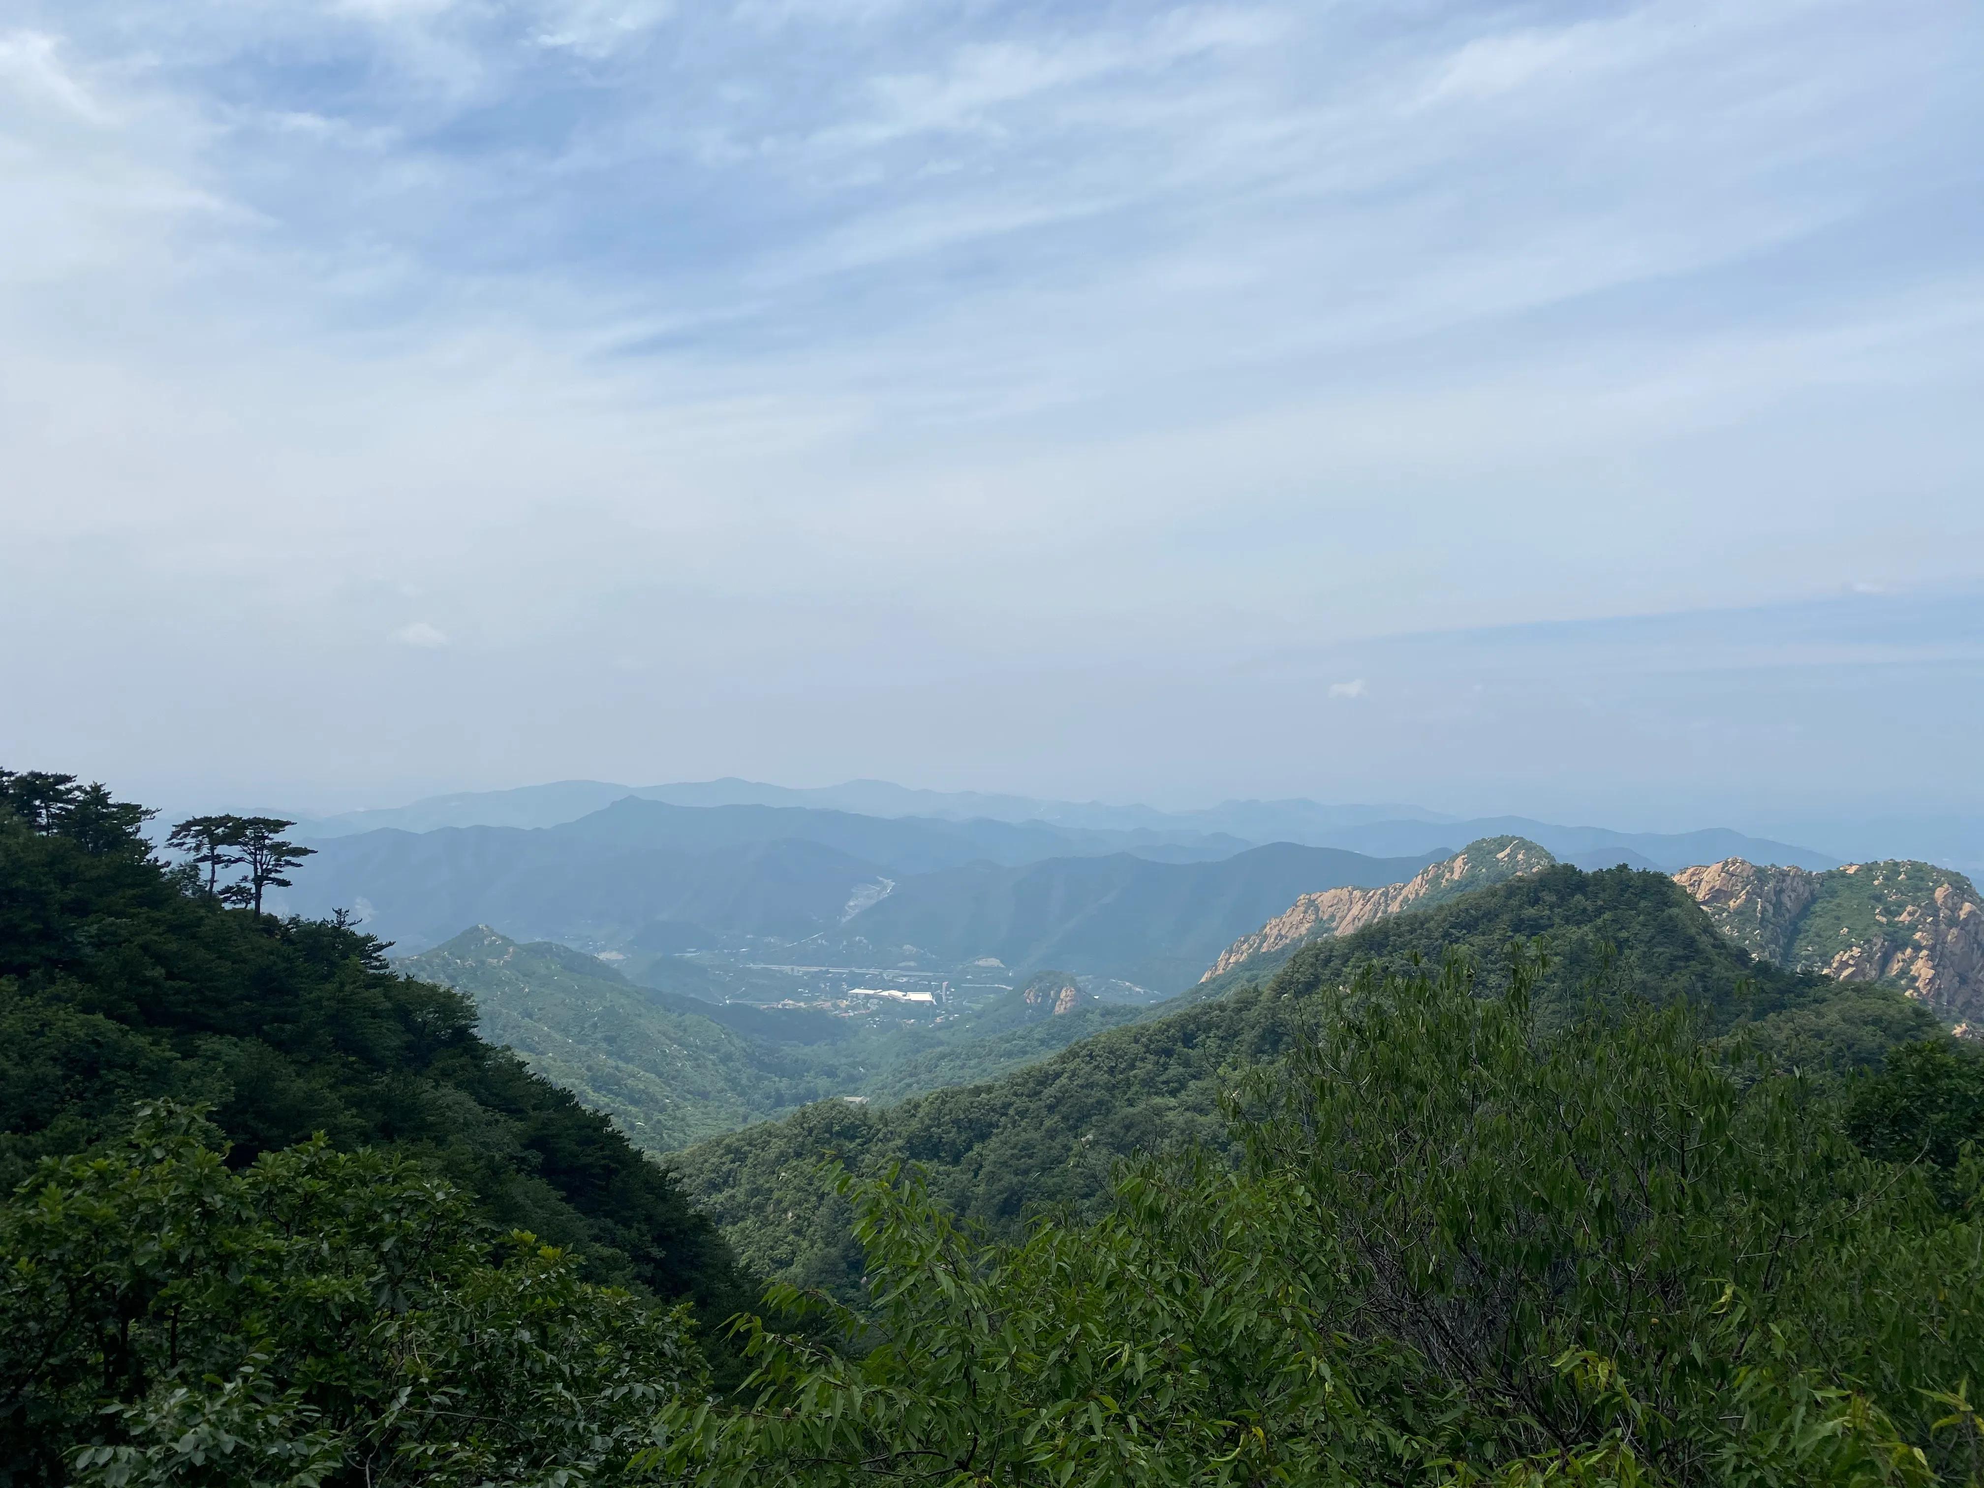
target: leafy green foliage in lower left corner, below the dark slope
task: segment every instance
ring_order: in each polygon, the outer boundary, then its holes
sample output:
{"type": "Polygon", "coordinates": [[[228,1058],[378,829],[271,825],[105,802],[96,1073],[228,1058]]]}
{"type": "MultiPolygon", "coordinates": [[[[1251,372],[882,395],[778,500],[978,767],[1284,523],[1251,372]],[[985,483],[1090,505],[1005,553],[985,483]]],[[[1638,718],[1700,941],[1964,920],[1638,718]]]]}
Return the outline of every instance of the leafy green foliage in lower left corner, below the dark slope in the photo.
{"type": "Polygon", "coordinates": [[[681,1311],[492,1246],[417,1163],[224,1159],[149,1105],[0,1208],[0,1482],[585,1482],[698,1385],[681,1311]]]}

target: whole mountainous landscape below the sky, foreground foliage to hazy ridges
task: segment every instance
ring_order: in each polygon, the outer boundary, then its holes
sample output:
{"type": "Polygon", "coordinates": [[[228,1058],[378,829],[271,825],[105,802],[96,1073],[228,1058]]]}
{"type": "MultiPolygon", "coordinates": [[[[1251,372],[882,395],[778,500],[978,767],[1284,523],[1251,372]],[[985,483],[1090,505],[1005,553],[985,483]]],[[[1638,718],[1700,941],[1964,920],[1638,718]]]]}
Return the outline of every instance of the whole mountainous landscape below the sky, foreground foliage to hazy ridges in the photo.
{"type": "MultiPolygon", "coordinates": [[[[1686,1423],[1661,1480],[1974,1478],[1984,907],[1946,869],[649,802],[266,839],[216,891],[268,821],[179,823],[175,865],[103,788],[0,792],[20,1482],[968,1482],[1075,1411],[1131,1464],[1169,1413],[1180,1484],[1544,1484],[1563,1442],[1649,1482],[1601,1367],[1686,1423]],[[286,875],[567,938],[391,956],[258,905],[286,875]]],[[[1052,1442],[1012,1480],[1145,1480],[1052,1442]]]]}

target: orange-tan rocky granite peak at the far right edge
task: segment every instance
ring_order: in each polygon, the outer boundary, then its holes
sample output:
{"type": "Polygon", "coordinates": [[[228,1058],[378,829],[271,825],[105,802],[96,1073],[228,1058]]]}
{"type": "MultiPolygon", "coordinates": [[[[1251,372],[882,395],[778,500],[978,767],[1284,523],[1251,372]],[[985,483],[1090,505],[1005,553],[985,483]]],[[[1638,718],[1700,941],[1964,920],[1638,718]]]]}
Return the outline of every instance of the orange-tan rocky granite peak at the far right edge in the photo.
{"type": "Polygon", "coordinates": [[[1730,857],[1674,883],[1758,956],[1895,982],[1960,1032],[1984,1030],[1984,901],[1962,873],[1911,861],[1807,873],[1730,857]]]}

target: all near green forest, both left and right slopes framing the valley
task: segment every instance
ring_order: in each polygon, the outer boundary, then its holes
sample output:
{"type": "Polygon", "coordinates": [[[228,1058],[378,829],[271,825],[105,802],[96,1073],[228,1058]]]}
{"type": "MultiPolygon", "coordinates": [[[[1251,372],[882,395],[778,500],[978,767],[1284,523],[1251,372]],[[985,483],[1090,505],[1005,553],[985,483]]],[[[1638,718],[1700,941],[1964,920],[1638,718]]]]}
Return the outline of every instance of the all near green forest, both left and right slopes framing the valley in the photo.
{"type": "Polygon", "coordinates": [[[1984,1055],[1659,875],[716,1143],[754,1307],[456,994],[0,794],[8,1488],[1984,1482],[1984,1055]]]}

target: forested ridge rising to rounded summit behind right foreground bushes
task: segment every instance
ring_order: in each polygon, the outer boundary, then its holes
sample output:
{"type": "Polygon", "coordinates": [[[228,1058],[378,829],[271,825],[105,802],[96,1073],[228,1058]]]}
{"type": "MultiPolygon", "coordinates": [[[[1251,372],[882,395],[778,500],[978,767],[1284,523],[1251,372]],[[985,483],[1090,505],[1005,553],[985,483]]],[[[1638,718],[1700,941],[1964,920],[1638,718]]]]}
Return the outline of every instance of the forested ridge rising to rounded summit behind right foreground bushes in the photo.
{"type": "Polygon", "coordinates": [[[1805,1063],[1875,1061],[1897,1042],[1936,1032],[1893,992],[1752,960],[1663,875],[1553,867],[1315,940],[1266,986],[1242,982],[1216,1002],[1101,1034],[1004,1079],[881,1111],[815,1105],[688,1149],[673,1167],[752,1266],[845,1288],[859,1256],[849,1212],[817,1173],[821,1155],[855,1167],[919,1163],[942,1204],[1010,1230],[1030,1208],[1093,1200],[1137,1149],[1218,1141],[1218,1097],[1234,1071],[1282,1054],[1317,992],[1357,968],[1411,970],[1460,954],[1478,966],[1486,994],[1506,984],[1516,938],[1550,954],[1534,992],[1546,1024],[1589,996],[1686,998],[1712,1032],[1754,1024],[1766,1048],[1805,1063]]]}

